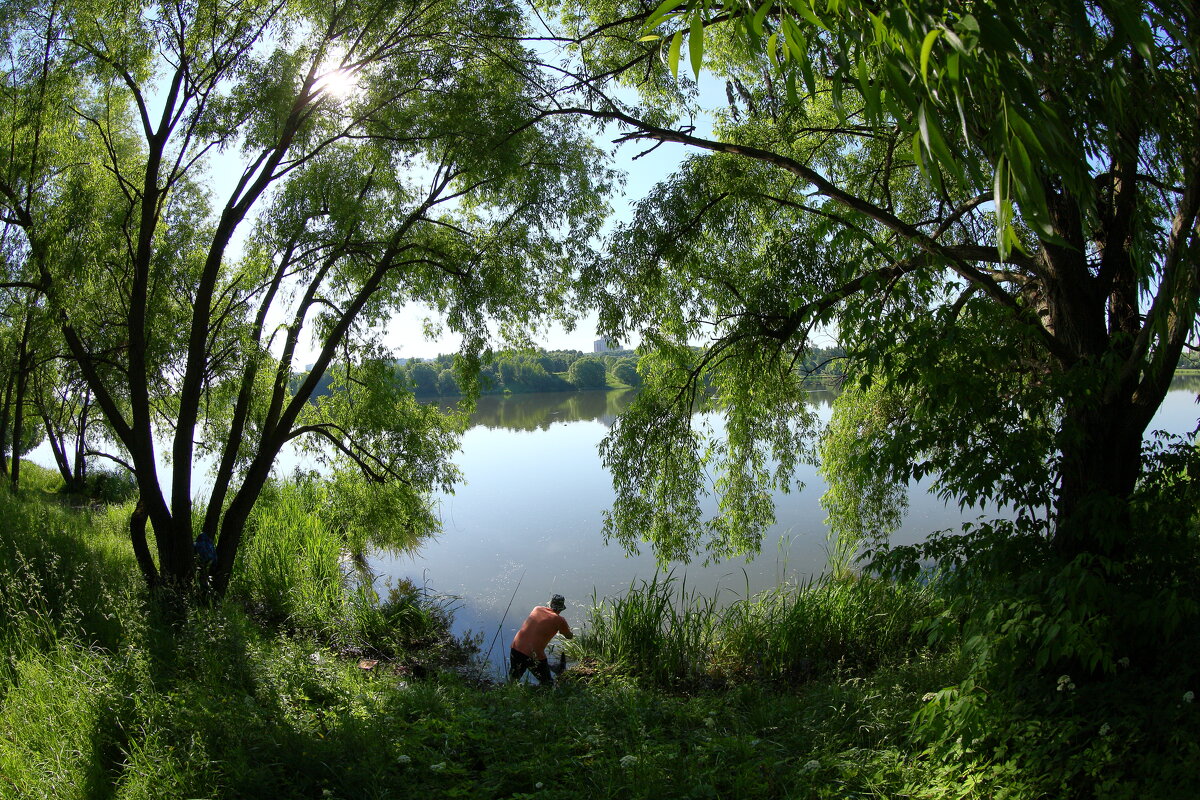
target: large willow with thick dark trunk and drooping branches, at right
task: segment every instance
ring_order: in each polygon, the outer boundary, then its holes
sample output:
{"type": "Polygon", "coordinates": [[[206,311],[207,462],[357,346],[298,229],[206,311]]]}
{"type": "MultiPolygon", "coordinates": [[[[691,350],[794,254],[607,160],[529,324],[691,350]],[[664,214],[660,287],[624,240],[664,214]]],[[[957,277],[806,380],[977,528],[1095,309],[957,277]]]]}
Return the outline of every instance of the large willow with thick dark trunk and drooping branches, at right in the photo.
{"type": "Polygon", "coordinates": [[[894,521],[896,489],[930,474],[1044,515],[1068,561],[1129,554],[1144,433],[1200,309],[1193,4],[562,10],[562,110],[692,154],[590,271],[605,335],[656,345],[606,443],[612,533],[668,555],[757,547],[766,489],[814,432],[796,365],[832,330],[854,387],[824,464],[842,519],[894,521]],[[721,441],[689,421],[706,383],[721,441]]]}

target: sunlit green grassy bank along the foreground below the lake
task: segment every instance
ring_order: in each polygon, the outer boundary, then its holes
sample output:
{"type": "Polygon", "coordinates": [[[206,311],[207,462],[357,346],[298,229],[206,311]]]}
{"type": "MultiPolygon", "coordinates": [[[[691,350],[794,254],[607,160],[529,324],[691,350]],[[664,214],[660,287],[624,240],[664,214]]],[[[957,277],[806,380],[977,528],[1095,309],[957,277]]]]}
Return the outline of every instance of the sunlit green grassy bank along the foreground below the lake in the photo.
{"type": "Polygon", "coordinates": [[[1104,706],[1106,729],[1052,686],[1057,705],[1027,698],[1007,717],[994,711],[1009,728],[986,742],[947,742],[916,724],[964,674],[953,640],[931,650],[913,626],[942,608],[929,588],[828,582],[716,609],[656,581],[592,612],[577,643],[587,668],[556,691],[481,685],[454,668],[463,649],[444,637],[444,608],[419,593],[376,602],[356,590],[336,548],[318,541],[325,528],[300,523],[312,498],[272,497],[229,602],[163,619],[136,578],[127,507],[72,510],[48,481],[20,498],[0,492],[0,796],[1190,796],[1194,787],[1196,715],[1177,686],[1168,706],[1130,684],[1104,706]],[[379,663],[360,668],[364,655],[379,663]],[[1122,711],[1123,700],[1140,706],[1122,711]],[[1159,730],[1139,730],[1151,715],[1159,730]],[[1175,750],[1150,754],[1160,741],[1175,750]]]}

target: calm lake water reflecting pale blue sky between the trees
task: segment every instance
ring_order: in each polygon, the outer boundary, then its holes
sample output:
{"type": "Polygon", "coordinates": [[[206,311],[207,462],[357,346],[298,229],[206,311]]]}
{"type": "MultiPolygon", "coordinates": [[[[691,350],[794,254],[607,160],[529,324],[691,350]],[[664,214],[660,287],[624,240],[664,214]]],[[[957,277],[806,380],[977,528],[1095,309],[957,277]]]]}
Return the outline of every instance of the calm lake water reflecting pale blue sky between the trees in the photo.
{"type": "MultiPolygon", "coordinates": [[[[1200,380],[1176,383],[1151,431],[1196,427],[1200,380]]],[[[499,663],[529,609],[552,594],[566,597],[564,616],[578,625],[593,597],[599,601],[652,578],[658,567],[648,547],[630,555],[618,545],[605,546],[601,534],[613,492],[596,446],[631,397],[628,391],[593,391],[481,398],[455,459],[466,482],[439,498],[442,533],[416,555],[373,557],[380,590],[407,578],[457,597],[456,630],[482,633],[485,654],[502,628],[491,654],[499,663]]],[[[833,397],[827,391],[810,395],[823,419],[833,397]]],[[[824,482],[811,467],[797,477],[804,489],[775,495],[778,522],[756,558],[668,569],[689,590],[721,593],[726,600],[821,575],[828,527],[817,500],[824,482]]],[[[978,509],[947,507],[926,486],[911,487],[908,516],[893,541],[916,542],[980,516],[978,509]]],[[[709,503],[707,510],[713,507],[709,503]]]]}

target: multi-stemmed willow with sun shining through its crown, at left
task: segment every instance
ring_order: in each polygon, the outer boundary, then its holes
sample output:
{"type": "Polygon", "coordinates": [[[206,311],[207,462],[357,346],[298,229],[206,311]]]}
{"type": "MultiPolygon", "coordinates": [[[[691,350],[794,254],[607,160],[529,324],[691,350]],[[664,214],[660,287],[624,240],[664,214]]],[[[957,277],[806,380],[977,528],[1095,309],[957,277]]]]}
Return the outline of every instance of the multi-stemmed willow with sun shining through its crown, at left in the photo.
{"type": "Polygon", "coordinates": [[[468,354],[492,320],[520,337],[599,218],[593,148],[533,124],[523,24],[450,0],[4,5],[10,278],[44,295],[124,446],[150,583],[188,585],[203,533],[226,589],[289,441],[389,487],[395,524],[433,524],[455,422],[394,385],[379,332],[420,301],[468,354]],[[335,362],[344,391],[310,403],[335,362]]]}

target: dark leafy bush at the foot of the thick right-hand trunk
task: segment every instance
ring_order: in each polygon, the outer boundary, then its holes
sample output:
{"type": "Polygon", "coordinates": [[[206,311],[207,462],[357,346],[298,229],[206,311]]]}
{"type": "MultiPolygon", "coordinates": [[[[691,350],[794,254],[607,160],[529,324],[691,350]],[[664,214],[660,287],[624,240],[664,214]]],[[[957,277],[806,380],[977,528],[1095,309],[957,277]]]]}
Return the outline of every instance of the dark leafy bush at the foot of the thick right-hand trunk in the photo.
{"type": "Polygon", "coordinates": [[[953,600],[928,627],[961,638],[965,675],[928,696],[913,730],[947,786],[1200,796],[1200,451],[1168,437],[1144,458],[1111,531],[1120,557],[1064,560],[1022,515],[875,558],[898,576],[936,563],[953,600]]]}

